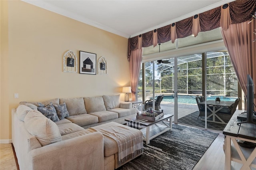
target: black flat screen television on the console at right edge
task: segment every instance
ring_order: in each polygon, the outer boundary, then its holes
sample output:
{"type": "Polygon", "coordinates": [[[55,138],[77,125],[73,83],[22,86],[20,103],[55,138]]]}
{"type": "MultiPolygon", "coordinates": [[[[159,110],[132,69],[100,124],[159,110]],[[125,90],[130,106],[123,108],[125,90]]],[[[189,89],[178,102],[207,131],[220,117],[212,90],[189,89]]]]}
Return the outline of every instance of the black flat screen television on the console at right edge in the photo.
{"type": "Polygon", "coordinates": [[[246,103],[247,103],[246,114],[247,114],[247,118],[246,118],[246,121],[240,122],[238,124],[241,124],[241,123],[256,124],[256,121],[254,119],[254,103],[253,103],[254,86],[255,86],[255,84],[253,83],[252,77],[248,74],[247,75],[247,95],[246,95],[246,103]]]}

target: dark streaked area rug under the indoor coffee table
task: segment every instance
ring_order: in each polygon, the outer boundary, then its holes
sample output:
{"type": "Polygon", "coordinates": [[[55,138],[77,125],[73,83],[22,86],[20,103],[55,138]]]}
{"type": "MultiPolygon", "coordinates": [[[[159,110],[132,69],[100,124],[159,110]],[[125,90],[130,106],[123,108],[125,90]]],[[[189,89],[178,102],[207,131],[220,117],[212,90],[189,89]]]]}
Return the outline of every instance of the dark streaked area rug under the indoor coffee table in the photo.
{"type": "Polygon", "coordinates": [[[173,124],[165,132],[144,142],[141,157],[124,164],[121,170],[192,170],[218,133],[173,124]]]}

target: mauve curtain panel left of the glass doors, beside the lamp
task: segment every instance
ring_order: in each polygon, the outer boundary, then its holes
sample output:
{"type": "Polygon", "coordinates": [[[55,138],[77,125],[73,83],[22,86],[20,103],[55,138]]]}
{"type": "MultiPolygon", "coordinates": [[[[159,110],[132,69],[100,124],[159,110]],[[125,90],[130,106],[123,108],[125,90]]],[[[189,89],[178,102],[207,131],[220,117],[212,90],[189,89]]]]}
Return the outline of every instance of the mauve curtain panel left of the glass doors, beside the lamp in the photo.
{"type": "Polygon", "coordinates": [[[138,87],[140,65],[142,61],[142,37],[138,37],[137,49],[131,51],[129,56],[132,100],[134,101],[136,100],[136,90],[138,87]]]}

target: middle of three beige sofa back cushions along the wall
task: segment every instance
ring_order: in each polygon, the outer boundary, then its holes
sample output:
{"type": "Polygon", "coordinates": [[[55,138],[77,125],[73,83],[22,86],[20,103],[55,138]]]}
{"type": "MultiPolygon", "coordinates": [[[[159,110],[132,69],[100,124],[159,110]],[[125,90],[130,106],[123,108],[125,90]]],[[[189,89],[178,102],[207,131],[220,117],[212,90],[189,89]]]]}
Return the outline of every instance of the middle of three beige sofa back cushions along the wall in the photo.
{"type": "Polygon", "coordinates": [[[84,104],[87,113],[106,111],[102,96],[84,97],[84,104]]]}

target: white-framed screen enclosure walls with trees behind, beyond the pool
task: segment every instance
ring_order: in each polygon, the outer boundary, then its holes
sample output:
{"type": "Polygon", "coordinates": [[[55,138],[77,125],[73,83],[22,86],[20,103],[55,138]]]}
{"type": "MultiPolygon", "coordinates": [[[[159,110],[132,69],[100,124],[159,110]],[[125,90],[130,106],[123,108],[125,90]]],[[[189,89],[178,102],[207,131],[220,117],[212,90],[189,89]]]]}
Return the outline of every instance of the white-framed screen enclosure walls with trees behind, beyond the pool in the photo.
{"type": "MultiPolygon", "coordinates": [[[[178,94],[202,95],[202,53],[178,57],[178,94]]],[[[145,97],[149,99],[153,93],[172,96],[174,91],[174,58],[168,63],[146,62],[145,67],[145,97]],[[154,63],[154,68],[153,68],[154,63]],[[153,71],[154,70],[154,71],[153,71]],[[154,76],[153,76],[154,74],[154,76]],[[153,81],[154,78],[154,81],[153,81]]],[[[142,66],[143,68],[143,66],[142,66]]],[[[206,53],[207,95],[230,99],[238,97],[238,81],[230,57],[226,51],[206,53]]],[[[142,69],[138,85],[138,99],[142,99],[142,69]]]]}

